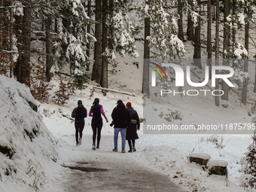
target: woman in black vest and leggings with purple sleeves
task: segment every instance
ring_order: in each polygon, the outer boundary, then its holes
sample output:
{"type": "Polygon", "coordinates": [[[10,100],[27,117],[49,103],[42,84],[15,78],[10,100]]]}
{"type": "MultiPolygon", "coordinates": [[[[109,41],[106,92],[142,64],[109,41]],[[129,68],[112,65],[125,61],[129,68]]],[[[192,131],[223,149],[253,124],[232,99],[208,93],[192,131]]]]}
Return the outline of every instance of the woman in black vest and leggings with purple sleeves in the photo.
{"type": "MultiPolygon", "coordinates": [[[[96,148],[99,149],[100,136],[102,132],[102,115],[105,117],[105,113],[103,110],[103,106],[99,105],[99,98],[95,98],[93,102],[93,106],[90,108],[89,117],[93,117],[92,119],[92,129],[93,129],[93,150],[96,148]],[[97,147],[95,147],[97,135],[97,147]]],[[[106,122],[108,123],[108,118],[105,117],[106,122]]]]}

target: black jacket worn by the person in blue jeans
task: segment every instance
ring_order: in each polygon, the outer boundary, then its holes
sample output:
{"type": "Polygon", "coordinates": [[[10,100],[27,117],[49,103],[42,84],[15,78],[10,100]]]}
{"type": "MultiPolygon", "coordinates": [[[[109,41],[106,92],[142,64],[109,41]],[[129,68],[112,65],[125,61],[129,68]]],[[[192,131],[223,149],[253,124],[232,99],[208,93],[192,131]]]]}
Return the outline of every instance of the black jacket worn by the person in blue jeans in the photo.
{"type": "Polygon", "coordinates": [[[114,128],[127,128],[131,122],[129,111],[123,103],[117,104],[112,111],[111,117],[114,121],[114,128]]]}

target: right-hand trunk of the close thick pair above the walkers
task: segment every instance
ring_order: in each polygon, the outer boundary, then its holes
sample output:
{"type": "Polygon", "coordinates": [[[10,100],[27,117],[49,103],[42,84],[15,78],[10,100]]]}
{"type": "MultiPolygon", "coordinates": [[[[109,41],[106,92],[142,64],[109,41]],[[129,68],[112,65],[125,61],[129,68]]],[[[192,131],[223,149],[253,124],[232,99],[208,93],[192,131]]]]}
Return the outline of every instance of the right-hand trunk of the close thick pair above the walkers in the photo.
{"type": "MultiPolygon", "coordinates": [[[[108,47],[108,0],[102,2],[102,53],[105,53],[108,47]]],[[[102,79],[101,86],[108,88],[108,57],[102,55],[102,79]]]]}

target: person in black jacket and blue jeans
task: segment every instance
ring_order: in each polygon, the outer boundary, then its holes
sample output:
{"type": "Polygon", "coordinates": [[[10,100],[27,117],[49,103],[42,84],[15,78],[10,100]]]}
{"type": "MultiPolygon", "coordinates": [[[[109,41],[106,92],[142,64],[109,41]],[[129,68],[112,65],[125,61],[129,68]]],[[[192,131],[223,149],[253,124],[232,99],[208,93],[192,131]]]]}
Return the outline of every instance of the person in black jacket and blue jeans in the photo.
{"type": "Polygon", "coordinates": [[[122,153],[125,153],[126,143],[126,128],[130,124],[131,117],[129,111],[126,109],[122,100],[117,101],[117,107],[115,107],[111,114],[112,120],[114,121],[114,149],[117,152],[117,139],[119,132],[122,137],[122,153]]]}

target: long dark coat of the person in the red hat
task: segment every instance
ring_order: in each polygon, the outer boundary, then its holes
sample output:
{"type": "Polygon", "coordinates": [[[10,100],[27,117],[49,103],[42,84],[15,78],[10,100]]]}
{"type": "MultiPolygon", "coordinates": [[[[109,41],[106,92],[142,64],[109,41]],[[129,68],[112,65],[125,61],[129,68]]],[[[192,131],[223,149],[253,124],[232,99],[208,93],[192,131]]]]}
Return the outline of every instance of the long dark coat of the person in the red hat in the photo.
{"type": "Polygon", "coordinates": [[[136,120],[137,123],[133,124],[132,122],[128,126],[126,130],[126,140],[133,140],[133,139],[139,139],[139,136],[137,134],[137,129],[139,130],[140,123],[139,123],[139,115],[136,110],[134,110],[132,107],[127,107],[127,110],[130,113],[131,119],[136,120]]]}

